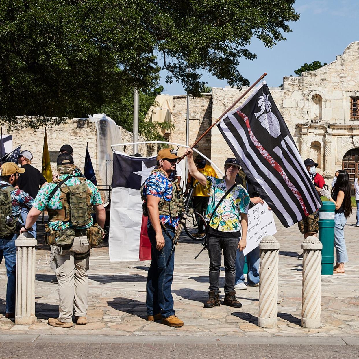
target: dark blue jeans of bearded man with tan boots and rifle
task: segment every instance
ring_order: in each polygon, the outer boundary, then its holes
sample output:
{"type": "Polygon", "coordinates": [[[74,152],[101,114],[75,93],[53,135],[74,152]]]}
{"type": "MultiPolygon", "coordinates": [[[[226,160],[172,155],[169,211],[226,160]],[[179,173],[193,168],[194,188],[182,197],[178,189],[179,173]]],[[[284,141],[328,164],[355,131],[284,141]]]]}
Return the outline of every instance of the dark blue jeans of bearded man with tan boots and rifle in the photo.
{"type": "MultiPolygon", "coordinates": [[[[170,232],[170,231],[169,231],[170,232]]],[[[169,257],[172,241],[162,229],[164,247],[156,249],[156,233],[152,226],[147,230],[151,242],[151,265],[147,273],[146,307],[148,315],[162,314],[163,318],[174,315],[171,286],[173,280],[174,252],[169,257]]],[[[171,233],[171,232],[170,232],[171,233]]],[[[171,235],[174,235],[172,232],[171,235]]]]}

